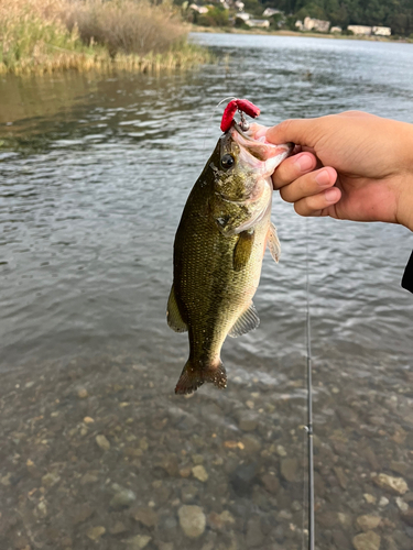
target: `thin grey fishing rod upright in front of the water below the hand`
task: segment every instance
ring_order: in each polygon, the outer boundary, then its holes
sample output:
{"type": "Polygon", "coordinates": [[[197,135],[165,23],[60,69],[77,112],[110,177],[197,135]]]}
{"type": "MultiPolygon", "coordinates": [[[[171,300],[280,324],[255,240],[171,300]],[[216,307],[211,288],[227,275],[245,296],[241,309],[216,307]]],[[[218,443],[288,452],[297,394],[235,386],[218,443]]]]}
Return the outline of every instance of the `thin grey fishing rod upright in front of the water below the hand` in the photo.
{"type": "Polygon", "coordinates": [[[314,521],[314,438],[313,438],[313,373],[309,315],[308,218],[306,221],[306,348],[307,348],[307,453],[308,453],[308,550],[315,549],[314,521]]]}

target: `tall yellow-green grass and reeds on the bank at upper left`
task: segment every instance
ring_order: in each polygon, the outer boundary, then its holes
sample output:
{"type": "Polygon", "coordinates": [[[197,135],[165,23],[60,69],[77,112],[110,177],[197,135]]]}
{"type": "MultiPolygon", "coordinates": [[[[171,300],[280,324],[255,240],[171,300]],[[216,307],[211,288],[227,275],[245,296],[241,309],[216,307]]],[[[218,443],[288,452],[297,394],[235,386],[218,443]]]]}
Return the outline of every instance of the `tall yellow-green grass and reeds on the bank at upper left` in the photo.
{"type": "Polygon", "coordinates": [[[0,0],[0,73],[160,70],[205,63],[171,4],[0,0]]]}

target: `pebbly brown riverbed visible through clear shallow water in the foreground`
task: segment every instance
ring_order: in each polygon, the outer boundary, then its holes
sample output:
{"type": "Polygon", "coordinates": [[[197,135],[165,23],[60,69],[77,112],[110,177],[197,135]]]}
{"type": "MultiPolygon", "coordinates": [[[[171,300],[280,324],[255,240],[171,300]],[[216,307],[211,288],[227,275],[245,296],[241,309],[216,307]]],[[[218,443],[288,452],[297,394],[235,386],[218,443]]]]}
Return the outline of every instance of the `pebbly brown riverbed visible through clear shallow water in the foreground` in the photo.
{"type": "MultiPolygon", "coordinates": [[[[235,376],[189,397],[128,355],[2,374],[0,548],[301,549],[304,362],[290,363],[276,386],[235,376]]],[[[314,374],[317,549],[411,549],[411,371],[387,387],[314,374]]]]}

